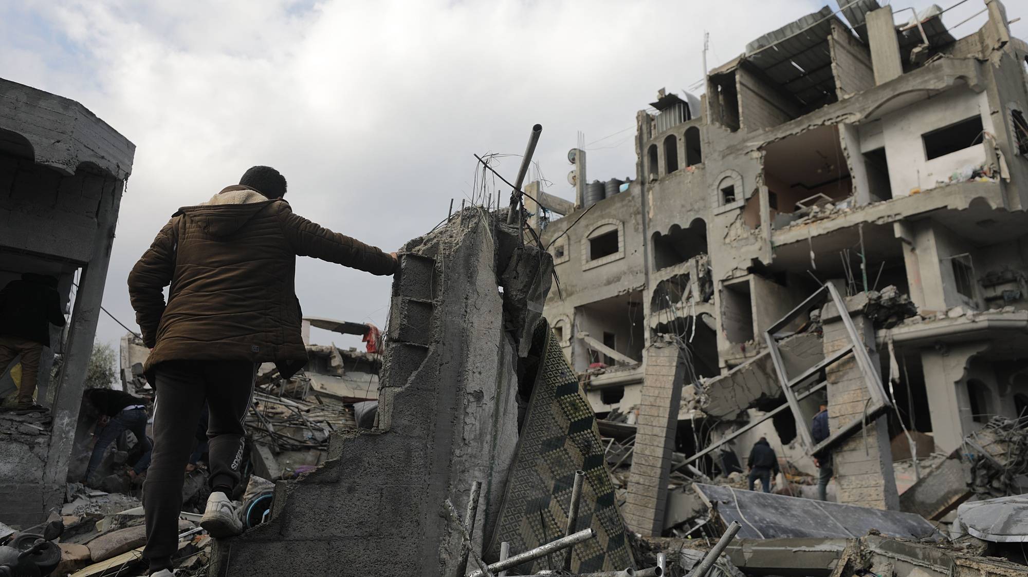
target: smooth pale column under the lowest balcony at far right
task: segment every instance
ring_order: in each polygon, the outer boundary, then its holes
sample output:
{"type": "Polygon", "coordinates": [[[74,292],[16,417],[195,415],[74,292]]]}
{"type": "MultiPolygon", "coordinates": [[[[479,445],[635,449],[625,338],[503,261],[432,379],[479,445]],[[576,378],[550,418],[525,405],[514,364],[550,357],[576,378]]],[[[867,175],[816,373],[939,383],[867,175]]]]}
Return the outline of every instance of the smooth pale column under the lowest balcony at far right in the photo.
{"type": "Polygon", "coordinates": [[[935,451],[951,453],[958,449],[967,430],[967,389],[963,382],[972,356],[989,343],[960,343],[946,348],[926,348],[921,352],[924,384],[928,392],[928,413],[935,451]],[[963,409],[963,411],[961,411],[963,409]]]}

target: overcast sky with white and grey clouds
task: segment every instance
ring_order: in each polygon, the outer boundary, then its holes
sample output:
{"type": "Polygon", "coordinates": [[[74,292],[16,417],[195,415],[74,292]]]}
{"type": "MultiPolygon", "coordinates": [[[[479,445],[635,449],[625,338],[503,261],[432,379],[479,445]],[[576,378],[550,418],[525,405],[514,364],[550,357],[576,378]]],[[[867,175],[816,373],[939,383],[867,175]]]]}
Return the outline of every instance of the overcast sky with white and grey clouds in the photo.
{"type": "MultiPolygon", "coordinates": [[[[1007,1],[1008,17],[1028,15],[1025,4],[1007,1]]],[[[104,296],[135,329],[133,264],[177,207],[207,200],[253,164],[285,175],[295,213],[395,251],[445,218],[450,198],[471,194],[473,153],[520,154],[536,122],[550,193],[574,197],[565,154],[579,131],[589,180],[634,177],[635,112],[658,88],[702,78],[704,31],[713,68],[823,5],[0,0],[0,77],[79,101],[136,144],[104,296]]],[[[968,0],[945,22],[982,8],[968,0]]],[[[1026,26],[1012,30],[1024,38],[1026,26]]],[[[513,178],[517,163],[498,169],[513,178]]],[[[306,258],[296,276],[305,314],[383,324],[389,278],[306,258]]],[[[123,333],[101,316],[98,339],[116,344],[123,333]]],[[[320,331],[313,340],[359,345],[320,331]]]]}

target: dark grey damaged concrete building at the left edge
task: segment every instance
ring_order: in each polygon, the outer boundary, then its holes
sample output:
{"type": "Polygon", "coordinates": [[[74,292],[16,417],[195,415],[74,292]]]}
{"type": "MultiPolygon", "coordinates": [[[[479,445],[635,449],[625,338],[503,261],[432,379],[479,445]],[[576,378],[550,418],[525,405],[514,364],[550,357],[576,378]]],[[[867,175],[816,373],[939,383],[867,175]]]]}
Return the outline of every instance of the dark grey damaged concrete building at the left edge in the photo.
{"type": "MultiPolygon", "coordinates": [[[[135,150],[82,105],[0,79],[0,287],[25,273],[53,276],[62,311],[71,315],[64,330],[51,328],[53,348],[43,349],[39,367],[36,402],[48,416],[0,415],[4,523],[40,523],[64,502],[72,433],[135,150]],[[51,379],[56,355],[62,362],[51,379]]],[[[15,386],[7,369],[0,367],[4,396],[15,386]]]]}

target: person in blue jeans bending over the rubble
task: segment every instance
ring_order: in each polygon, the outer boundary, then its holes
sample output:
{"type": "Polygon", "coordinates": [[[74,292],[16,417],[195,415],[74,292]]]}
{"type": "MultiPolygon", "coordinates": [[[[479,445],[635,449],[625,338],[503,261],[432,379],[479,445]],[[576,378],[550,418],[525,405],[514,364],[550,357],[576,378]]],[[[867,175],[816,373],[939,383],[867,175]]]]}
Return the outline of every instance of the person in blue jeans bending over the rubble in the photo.
{"type": "Polygon", "coordinates": [[[146,436],[146,421],[149,419],[146,414],[146,402],[124,391],[113,389],[89,388],[85,389],[83,396],[97,413],[100,413],[101,427],[97,443],[93,446],[93,455],[89,456],[89,465],[85,468],[84,482],[88,484],[94,480],[93,473],[97,472],[97,467],[104,460],[107,448],[126,430],[136,435],[136,440],[143,448],[142,456],[133,465],[133,474],[138,475],[145,471],[150,466],[153,449],[146,436]]]}

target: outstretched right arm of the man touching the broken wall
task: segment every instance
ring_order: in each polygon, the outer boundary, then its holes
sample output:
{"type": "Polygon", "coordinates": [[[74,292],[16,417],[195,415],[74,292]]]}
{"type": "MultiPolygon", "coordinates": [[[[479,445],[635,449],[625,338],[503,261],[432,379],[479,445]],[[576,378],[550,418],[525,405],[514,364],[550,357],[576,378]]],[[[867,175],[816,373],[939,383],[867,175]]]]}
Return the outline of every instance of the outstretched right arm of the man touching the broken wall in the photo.
{"type": "Polygon", "coordinates": [[[289,204],[283,203],[279,218],[283,233],[300,257],[314,257],[379,275],[393,274],[399,266],[395,256],[296,216],[289,204]]]}

